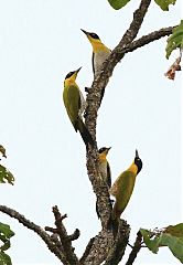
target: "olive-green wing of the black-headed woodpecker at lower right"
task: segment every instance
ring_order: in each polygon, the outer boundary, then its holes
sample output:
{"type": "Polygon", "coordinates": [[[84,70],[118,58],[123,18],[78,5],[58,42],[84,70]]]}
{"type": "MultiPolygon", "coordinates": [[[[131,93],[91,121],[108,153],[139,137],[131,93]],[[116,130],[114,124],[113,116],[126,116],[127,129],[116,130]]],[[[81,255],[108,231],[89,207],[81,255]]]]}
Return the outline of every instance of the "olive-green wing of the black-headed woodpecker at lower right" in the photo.
{"type": "MultiPolygon", "coordinates": [[[[125,171],[117,179],[116,212],[122,213],[133,191],[136,174],[125,171]]],[[[117,214],[118,215],[118,214],[117,214]]]]}

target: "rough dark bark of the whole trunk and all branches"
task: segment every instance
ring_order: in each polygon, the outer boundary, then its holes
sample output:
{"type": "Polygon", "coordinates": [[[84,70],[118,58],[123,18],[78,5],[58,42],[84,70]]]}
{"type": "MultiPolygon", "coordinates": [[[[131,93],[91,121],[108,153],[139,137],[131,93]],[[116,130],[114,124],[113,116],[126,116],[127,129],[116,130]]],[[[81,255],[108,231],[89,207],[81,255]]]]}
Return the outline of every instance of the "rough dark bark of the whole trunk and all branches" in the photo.
{"type": "MultiPolygon", "coordinates": [[[[141,0],[139,8],[133,13],[133,19],[129,29],[126,31],[119,44],[112,50],[109,57],[104,62],[100,74],[94,80],[92,87],[87,94],[87,109],[86,109],[86,126],[90,131],[93,139],[96,141],[97,131],[97,113],[100,106],[101,93],[112,75],[114,68],[122,57],[134,50],[144,46],[155,40],[172,33],[173,26],[164,28],[136,40],[144,15],[148,11],[151,0],[141,0]]],[[[53,208],[55,216],[55,226],[46,226],[45,230],[51,232],[52,235],[46,233],[41,226],[25,219],[19,212],[0,205],[0,211],[17,219],[28,229],[34,231],[47,245],[49,250],[64,265],[117,265],[121,261],[129,241],[130,226],[126,221],[120,220],[117,234],[114,235],[114,226],[111,222],[111,202],[109,199],[108,187],[103,179],[98,178],[98,160],[97,160],[97,141],[95,147],[90,147],[86,155],[86,167],[88,178],[92,182],[93,190],[97,198],[97,206],[100,215],[101,231],[95,237],[90,239],[86,250],[80,259],[77,258],[72,241],[77,240],[79,231],[76,229],[72,235],[68,235],[63,224],[66,215],[61,215],[56,206],[53,208]]],[[[133,263],[141,246],[141,237],[138,234],[132,251],[130,253],[127,265],[133,263]]]]}

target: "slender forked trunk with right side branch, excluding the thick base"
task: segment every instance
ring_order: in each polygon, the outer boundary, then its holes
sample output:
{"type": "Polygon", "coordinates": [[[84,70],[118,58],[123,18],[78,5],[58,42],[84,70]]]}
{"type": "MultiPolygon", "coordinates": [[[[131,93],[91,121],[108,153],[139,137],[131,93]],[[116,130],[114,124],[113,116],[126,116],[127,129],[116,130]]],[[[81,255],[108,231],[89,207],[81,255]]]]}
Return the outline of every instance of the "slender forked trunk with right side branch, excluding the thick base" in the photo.
{"type": "MultiPolygon", "coordinates": [[[[93,138],[96,139],[96,126],[97,126],[97,110],[99,108],[99,100],[101,91],[107,86],[109,77],[112,74],[112,71],[116,64],[125,56],[126,53],[132,52],[138,47],[141,47],[150,42],[161,39],[162,36],[169,35],[172,33],[172,29],[174,26],[169,26],[164,29],[160,29],[159,31],[154,31],[144,35],[137,41],[131,42],[138,34],[138,31],[141,26],[146,12],[148,11],[148,7],[150,4],[150,0],[141,1],[139,9],[133,14],[133,21],[130,24],[130,28],[126,31],[119,44],[114,49],[108,60],[104,63],[104,67],[101,70],[100,75],[94,81],[92,88],[87,95],[87,116],[86,116],[86,125],[89,131],[93,135],[93,138]]],[[[97,195],[98,201],[98,210],[101,216],[101,225],[107,226],[108,222],[105,220],[109,220],[111,204],[108,195],[108,189],[105,183],[100,181],[98,183],[97,178],[97,149],[89,150],[87,156],[87,170],[88,177],[93,183],[94,192],[97,195]]]]}

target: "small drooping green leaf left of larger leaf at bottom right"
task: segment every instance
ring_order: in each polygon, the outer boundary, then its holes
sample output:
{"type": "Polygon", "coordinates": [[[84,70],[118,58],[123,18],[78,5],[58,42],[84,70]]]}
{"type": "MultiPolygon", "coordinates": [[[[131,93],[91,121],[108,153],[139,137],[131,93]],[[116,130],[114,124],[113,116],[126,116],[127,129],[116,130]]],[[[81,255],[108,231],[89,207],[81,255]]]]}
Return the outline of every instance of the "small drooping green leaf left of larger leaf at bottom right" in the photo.
{"type": "Polygon", "coordinates": [[[151,237],[153,236],[154,233],[152,233],[149,230],[140,229],[140,232],[141,232],[141,234],[143,236],[144,244],[148,246],[148,248],[152,253],[157,254],[158,251],[159,251],[159,241],[160,241],[160,239],[157,236],[155,239],[151,240],[151,237]]]}

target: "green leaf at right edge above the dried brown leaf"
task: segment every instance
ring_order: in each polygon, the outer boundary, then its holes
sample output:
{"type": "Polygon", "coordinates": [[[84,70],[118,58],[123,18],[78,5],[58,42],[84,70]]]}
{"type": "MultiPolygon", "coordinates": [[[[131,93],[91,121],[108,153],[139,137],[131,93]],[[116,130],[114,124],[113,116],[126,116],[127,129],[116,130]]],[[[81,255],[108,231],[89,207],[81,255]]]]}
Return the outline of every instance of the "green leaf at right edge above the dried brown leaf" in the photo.
{"type": "Polygon", "coordinates": [[[169,59],[172,51],[177,47],[183,49],[183,20],[181,20],[181,23],[173,29],[172,35],[168,38],[168,44],[165,47],[166,59],[169,59]]]}

